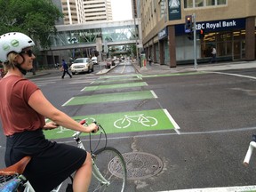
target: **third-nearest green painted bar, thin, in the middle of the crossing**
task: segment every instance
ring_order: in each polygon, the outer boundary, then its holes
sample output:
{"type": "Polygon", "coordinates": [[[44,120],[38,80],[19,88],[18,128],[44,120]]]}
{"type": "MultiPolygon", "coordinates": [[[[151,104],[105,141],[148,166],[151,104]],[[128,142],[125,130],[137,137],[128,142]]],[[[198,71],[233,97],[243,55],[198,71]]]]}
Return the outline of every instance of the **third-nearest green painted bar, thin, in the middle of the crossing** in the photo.
{"type": "Polygon", "coordinates": [[[146,86],[148,85],[145,82],[135,82],[135,83],[126,83],[126,84],[103,84],[98,86],[87,86],[82,91],[96,91],[103,89],[121,89],[127,87],[138,87],[138,86],[146,86]]]}

